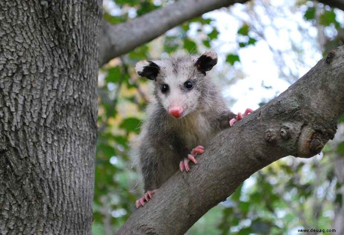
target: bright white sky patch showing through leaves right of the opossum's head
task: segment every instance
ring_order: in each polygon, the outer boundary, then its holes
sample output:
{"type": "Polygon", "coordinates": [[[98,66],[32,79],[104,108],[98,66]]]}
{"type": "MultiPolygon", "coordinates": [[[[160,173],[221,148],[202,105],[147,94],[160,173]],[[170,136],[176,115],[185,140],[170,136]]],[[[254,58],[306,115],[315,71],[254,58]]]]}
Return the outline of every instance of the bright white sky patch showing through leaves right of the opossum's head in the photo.
{"type": "MultiPolygon", "coordinates": [[[[255,6],[255,12],[258,12],[256,17],[260,19],[260,22],[255,22],[255,17],[248,15],[246,6],[241,4],[232,6],[229,11],[224,9],[205,14],[205,17],[215,19],[213,26],[219,31],[218,38],[212,43],[212,47],[219,54],[219,64],[228,53],[237,53],[240,56],[241,64],[239,66],[235,64],[234,67],[243,71],[244,78],[223,91],[225,96],[236,99],[231,107],[234,113],[243,112],[246,108],[257,109],[260,102],[274,98],[295,80],[292,76],[287,80],[282,78],[280,68],[275,61],[276,54],[273,54],[269,46],[281,51],[283,56],[280,59],[283,65],[288,67],[294,75],[299,75],[298,78],[322,58],[314,43],[317,30],[303,19],[303,11],[300,9],[293,11],[295,9],[293,0],[272,2],[274,5],[271,10],[279,13],[269,17],[266,8],[260,5],[260,1],[256,1],[258,4],[255,6]],[[260,30],[265,40],[258,39],[255,45],[238,48],[235,42],[237,31],[243,20],[260,30]],[[260,24],[260,27],[256,26],[257,24],[260,24]],[[306,37],[302,35],[300,28],[307,32],[306,37]],[[303,48],[302,64],[295,58],[298,54],[292,51],[292,42],[303,48]],[[271,88],[266,89],[262,84],[271,88]]],[[[286,73],[288,74],[288,71],[286,73]]]]}

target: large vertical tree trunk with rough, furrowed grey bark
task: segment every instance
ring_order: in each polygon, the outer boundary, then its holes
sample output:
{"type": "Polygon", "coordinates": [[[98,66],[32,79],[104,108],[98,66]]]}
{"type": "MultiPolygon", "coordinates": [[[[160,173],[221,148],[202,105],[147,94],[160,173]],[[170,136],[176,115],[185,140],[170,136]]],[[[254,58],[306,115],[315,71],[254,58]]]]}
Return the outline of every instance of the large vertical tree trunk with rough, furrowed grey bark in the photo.
{"type": "Polygon", "coordinates": [[[90,234],[101,0],[0,0],[0,234],[90,234]]]}

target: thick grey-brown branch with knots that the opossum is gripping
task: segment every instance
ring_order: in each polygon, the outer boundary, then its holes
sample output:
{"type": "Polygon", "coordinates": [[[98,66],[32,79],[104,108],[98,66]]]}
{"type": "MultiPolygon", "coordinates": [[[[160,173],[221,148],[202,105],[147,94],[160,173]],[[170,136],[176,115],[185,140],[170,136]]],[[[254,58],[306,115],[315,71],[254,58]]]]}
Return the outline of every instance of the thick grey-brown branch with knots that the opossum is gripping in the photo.
{"type": "Polygon", "coordinates": [[[118,232],[183,234],[257,170],[282,157],[311,157],[344,113],[344,46],[280,96],[218,135],[191,171],[174,174],[118,232]]]}

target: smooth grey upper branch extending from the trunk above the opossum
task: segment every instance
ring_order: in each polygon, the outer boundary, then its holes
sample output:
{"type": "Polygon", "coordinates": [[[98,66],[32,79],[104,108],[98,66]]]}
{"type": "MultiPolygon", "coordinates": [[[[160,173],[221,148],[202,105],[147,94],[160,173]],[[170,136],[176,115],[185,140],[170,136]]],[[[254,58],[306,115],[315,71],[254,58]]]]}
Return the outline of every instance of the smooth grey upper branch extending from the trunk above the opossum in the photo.
{"type": "Polygon", "coordinates": [[[129,22],[111,25],[103,21],[99,37],[99,64],[125,54],[169,29],[203,13],[248,0],[182,0],[129,22]]]}

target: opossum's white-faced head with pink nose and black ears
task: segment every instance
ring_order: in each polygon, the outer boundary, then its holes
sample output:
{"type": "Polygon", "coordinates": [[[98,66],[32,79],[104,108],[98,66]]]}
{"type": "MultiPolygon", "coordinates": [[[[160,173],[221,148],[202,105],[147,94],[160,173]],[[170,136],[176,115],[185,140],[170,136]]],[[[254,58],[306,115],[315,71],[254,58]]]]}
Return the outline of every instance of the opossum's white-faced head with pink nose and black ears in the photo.
{"type": "Polygon", "coordinates": [[[207,85],[206,72],[217,63],[217,54],[207,50],[199,57],[171,57],[141,60],[135,69],[139,76],[154,80],[158,102],[174,118],[182,118],[200,108],[207,85]]]}

